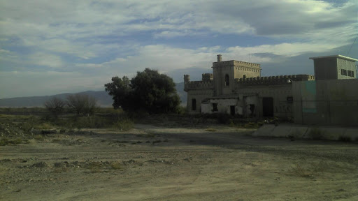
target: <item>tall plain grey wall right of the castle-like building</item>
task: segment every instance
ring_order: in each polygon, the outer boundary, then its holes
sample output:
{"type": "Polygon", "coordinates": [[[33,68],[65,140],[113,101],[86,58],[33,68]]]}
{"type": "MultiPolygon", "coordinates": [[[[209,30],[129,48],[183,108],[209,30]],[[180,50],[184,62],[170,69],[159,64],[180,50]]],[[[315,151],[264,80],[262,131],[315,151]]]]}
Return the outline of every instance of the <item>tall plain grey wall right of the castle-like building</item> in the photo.
{"type": "Polygon", "coordinates": [[[358,126],[357,88],[356,79],[295,82],[295,123],[358,126]]]}

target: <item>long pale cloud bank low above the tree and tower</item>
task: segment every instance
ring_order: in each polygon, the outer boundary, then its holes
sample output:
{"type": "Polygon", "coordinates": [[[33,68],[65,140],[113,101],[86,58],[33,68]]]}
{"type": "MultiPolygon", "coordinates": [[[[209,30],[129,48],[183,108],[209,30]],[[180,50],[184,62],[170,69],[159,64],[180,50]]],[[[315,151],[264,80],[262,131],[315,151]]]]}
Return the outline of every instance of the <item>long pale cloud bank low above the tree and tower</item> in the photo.
{"type": "Polygon", "coordinates": [[[260,54],[276,54],[283,58],[294,57],[307,52],[334,48],[329,44],[315,43],[282,43],[278,45],[257,45],[254,47],[200,47],[185,49],[169,45],[145,45],[136,49],[137,54],[131,57],[118,57],[101,64],[76,64],[79,68],[101,69],[107,75],[131,76],[145,68],[157,69],[162,73],[185,68],[210,68],[216,60],[216,54],[222,54],[224,60],[241,60],[278,63],[277,58],[260,56],[260,54]],[[252,54],[250,57],[248,54],[252,54]],[[257,54],[257,55],[255,55],[257,54]]]}

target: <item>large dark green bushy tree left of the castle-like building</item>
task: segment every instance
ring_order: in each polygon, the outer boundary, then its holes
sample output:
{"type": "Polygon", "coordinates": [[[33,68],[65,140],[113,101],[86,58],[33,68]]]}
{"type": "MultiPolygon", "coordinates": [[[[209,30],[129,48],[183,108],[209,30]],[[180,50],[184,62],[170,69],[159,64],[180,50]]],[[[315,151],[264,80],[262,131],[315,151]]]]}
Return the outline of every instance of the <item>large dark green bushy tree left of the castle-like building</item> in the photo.
{"type": "Polygon", "coordinates": [[[145,68],[137,72],[130,81],[128,77],[112,77],[105,84],[108,94],[113,96],[113,107],[124,110],[145,110],[150,113],[177,112],[180,98],[176,94],[176,84],[168,75],[145,68]]]}

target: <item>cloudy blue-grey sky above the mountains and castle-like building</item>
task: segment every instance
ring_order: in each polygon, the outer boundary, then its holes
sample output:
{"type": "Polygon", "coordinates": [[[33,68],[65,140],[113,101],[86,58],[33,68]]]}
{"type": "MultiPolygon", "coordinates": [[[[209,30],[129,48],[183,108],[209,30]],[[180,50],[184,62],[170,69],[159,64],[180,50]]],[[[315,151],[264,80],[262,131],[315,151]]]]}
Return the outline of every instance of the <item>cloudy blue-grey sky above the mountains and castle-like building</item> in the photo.
{"type": "Polygon", "coordinates": [[[0,98],[100,91],[145,68],[200,80],[217,54],[313,75],[308,57],[357,59],[357,34],[358,0],[0,0],[0,98]]]}

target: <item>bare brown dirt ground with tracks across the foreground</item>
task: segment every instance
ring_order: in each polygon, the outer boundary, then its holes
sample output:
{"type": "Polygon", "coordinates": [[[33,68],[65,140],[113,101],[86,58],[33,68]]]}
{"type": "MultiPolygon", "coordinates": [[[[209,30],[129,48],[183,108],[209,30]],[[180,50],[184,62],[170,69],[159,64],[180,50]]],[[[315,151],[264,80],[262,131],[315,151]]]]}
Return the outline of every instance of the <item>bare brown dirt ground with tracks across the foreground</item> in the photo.
{"type": "Polygon", "coordinates": [[[0,147],[0,200],[358,200],[358,144],[224,126],[87,129],[0,147]]]}

